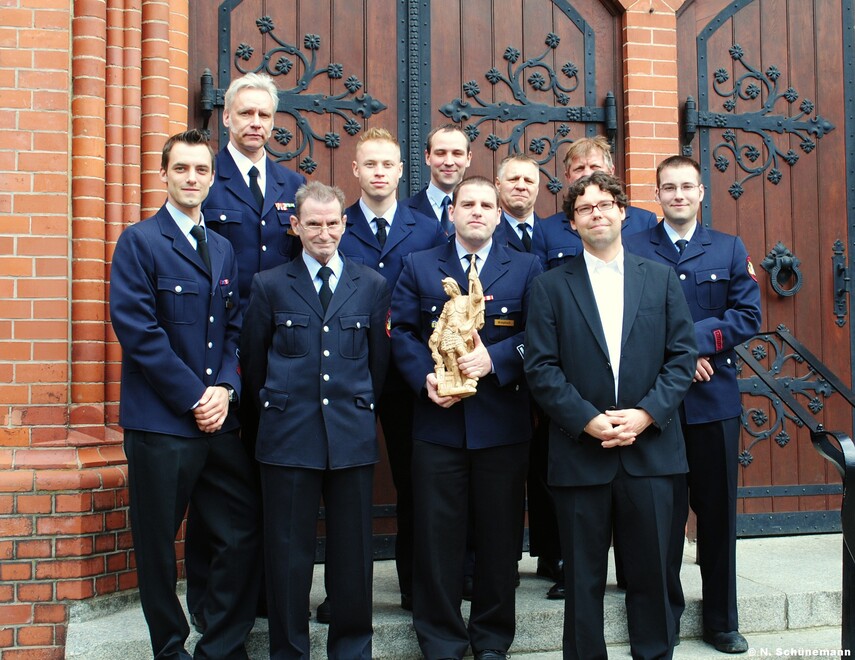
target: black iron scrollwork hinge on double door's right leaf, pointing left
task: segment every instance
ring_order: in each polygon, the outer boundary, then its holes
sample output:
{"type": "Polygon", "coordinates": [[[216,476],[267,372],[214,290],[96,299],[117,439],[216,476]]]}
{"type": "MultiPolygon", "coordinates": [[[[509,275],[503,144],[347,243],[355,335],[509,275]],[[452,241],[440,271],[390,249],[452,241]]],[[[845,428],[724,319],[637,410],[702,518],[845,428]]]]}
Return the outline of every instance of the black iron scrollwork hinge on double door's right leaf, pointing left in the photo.
{"type": "Polygon", "coordinates": [[[544,165],[555,158],[561,145],[573,142],[569,123],[599,122],[606,125],[606,134],[614,141],[617,134],[617,107],[614,94],[606,95],[604,107],[571,106],[570,95],[579,87],[579,67],[573,62],[566,62],[559,74],[546,63],[546,58],[552,50],[558,47],[560,38],[550,32],[546,35],[546,50],[537,57],[522,59],[519,49],[514,46],[505,48],[502,58],[507,62],[507,71],[502,72],[496,67],[486,72],[485,78],[490,85],[505,85],[513,95],[514,103],[487,103],[481,97],[481,86],[475,80],[463,85],[463,93],[470,101],[456,98],[443,105],[439,111],[454,122],[469,122],[463,127],[469,139],[474,142],[481,134],[479,128],[486,121],[518,122],[511,134],[500,138],[490,133],[484,140],[484,145],[491,151],[498,151],[503,145],[508,145],[509,153],[520,153],[526,150],[538,162],[541,172],[548,178],[547,189],[552,194],[558,194],[563,184],[546,171],[544,165]],[[551,92],[553,103],[539,103],[528,96],[528,91],[551,92]],[[470,121],[471,120],[471,121],[470,121]],[[528,145],[521,146],[525,131],[533,124],[557,124],[554,135],[533,137],[528,145]]]}

